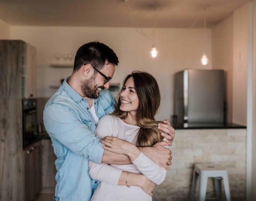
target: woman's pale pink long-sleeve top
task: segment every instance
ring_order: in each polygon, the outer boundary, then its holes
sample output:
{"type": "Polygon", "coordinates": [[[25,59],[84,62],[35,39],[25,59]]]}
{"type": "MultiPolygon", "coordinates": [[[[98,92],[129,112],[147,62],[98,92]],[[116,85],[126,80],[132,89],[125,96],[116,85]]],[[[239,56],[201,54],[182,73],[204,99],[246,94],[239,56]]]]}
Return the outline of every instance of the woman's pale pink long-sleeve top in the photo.
{"type": "MultiPolygon", "coordinates": [[[[136,143],[136,136],[139,132],[139,126],[125,123],[113,115],[103,116],[98,123],[96,136],[103,138],[105,136],[118,137],[132,144],[136,143]]],[[[152,198],[146,194],[141,187],[118,186],[118,181],[122,171],[143,174],[155,184],[160,184],[166,177],[166,170],[153,162],[142,152],[132,164],[114,165],[98,164],[89,162],[90,176],[99,180],[91,201],[151,201],[152,198]]],[[[128,180],[129,181],[129,180],[128,180]]]]}

